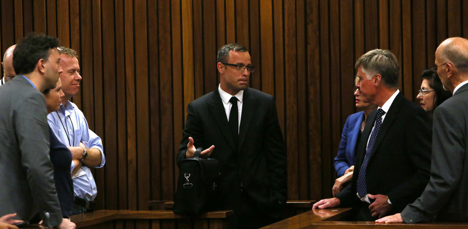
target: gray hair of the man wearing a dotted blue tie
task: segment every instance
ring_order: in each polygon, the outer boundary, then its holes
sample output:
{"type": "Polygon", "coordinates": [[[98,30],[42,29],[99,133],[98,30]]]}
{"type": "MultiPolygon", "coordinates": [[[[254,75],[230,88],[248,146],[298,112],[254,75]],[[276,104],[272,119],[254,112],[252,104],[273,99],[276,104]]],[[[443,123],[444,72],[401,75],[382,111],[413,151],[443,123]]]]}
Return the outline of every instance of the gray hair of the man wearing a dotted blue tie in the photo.
{"type": "Polygon", "coordinates": [[[374,49],[365,53],[359,57],[354,65],[356,70],[359,67],[362,67],[367,75],[380,74],[387,87],[399,87],[400,67],[396,56],[389,50],[374,49]]]}

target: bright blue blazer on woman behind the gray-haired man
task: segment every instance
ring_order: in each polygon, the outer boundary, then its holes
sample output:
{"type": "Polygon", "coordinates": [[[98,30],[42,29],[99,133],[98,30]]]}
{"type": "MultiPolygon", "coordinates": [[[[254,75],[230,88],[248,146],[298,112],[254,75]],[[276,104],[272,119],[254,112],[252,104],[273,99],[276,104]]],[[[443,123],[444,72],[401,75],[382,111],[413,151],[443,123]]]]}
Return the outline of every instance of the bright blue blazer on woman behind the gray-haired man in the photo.
{"type": "Polygon", "coordinates": [[[338,176],[343,176],[345,171],[356,163],[356,143],[363,118],[364,111],[360,111],[351,114],[348,116],[348,119],[346,119],[345,126],[343,126],[343,133],[341,134],[340,145],[338,147],[338,154],[334,161],[338,176]]]}

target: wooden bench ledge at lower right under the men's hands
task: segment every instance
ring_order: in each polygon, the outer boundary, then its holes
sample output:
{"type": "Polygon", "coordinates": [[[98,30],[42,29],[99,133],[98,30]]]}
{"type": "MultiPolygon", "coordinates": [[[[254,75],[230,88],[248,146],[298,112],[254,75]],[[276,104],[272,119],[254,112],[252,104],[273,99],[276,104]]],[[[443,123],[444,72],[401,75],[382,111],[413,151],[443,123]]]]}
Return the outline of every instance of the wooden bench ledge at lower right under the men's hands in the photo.
{"type": "Polygon", "coordinates": [[[348,220],[351,208],[314,209],[281,220],[262,229],[462,229],[468,223],[379,224],[348,220]]]}

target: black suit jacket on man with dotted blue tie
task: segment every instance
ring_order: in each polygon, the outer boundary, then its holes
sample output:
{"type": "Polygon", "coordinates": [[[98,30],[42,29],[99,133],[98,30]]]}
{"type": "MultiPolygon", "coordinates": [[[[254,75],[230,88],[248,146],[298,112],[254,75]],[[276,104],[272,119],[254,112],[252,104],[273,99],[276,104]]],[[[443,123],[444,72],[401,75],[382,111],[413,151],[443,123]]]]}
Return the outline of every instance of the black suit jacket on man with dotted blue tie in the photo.
{"type": "MultiPolygon", "coordinates": [[[[362,133],[351,186],[337,195],[343,206],[359,206],[361,203],[356,196],[356,182],[376,113],[370,113],[362,133]]],[[[393,205],[392,212],[401,212],[424,190],[429,181],[429,168],[427,114],[400,92],[383,120],[370,154],[366,172],[367,191],[369,194],[388,195],[393,205]]]]}

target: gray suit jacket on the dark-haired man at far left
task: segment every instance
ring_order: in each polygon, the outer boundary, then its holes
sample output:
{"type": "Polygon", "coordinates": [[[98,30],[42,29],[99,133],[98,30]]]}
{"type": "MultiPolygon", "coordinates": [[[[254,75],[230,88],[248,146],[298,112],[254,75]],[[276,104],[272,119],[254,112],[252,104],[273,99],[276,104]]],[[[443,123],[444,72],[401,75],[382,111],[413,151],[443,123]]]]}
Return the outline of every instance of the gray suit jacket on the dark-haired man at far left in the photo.
{"type": "Polygon", "coordinates": [[[0,107],[0,215],[29,221],[39,213],[46,226],[58,226],[45,98],[18,75],[1,86],[0,107]]]}

